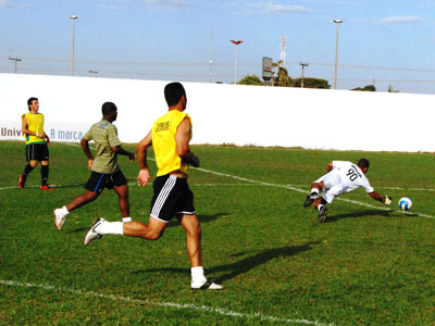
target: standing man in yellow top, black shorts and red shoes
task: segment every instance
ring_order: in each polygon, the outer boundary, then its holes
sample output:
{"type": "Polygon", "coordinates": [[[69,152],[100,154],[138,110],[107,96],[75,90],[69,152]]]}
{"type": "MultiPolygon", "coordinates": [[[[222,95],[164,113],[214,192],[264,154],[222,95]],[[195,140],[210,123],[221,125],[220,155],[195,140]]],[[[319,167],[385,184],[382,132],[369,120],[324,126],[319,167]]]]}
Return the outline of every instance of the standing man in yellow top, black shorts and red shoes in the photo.
{"type": "Polygon", "coordinates": [[[49,150],[50,138],[44,131],[44,114],[39,113],[39,101],[37,98],[27,100],[28,112],[23,114],[22,130],[26,140],[27,165],[24,173],[20,176],[18,187],[23,189],[26,185],[28,174],[41,162],[41,190],[53,190],[48,186],[49,173],[49,150]]]}

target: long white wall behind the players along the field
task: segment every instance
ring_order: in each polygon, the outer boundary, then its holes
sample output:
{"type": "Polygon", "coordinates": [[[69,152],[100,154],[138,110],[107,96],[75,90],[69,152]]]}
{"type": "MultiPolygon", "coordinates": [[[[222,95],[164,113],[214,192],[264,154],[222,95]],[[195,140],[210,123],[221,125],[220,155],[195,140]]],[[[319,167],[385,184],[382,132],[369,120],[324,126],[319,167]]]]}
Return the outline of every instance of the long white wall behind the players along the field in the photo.
{"type": "MultiPolygon", "coordinates": [[[[166,84],[0,74],[0,127],[4,131],[4,126],[14,128],[16,123],[21,129],[20,117],[27,112],[29,97],[39,98],[46,131],[48,127],[86,130],[101,118],[101,104],[112,101],[119,108],[120,139],[137,142],[167,110],[166,84]]],[[[192,143],[435,151],[432,95],[183,84],[186,112],[194,122],[192,143]]],[[[12,138],[3,135],[0,139],[12,138]]]]}

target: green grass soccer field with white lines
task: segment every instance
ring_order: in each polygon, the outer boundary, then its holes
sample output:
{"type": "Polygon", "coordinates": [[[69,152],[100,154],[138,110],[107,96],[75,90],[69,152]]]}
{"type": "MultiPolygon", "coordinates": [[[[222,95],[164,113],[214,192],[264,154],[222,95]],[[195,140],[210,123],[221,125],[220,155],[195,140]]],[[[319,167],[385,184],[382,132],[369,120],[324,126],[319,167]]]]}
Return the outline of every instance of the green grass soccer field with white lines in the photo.
{"type": "MultiPolygon", "coordinates": [[[[104,236],[84,247],[96,217],[121,221],[104,190],[55,229],[52,210],[84,192],[89,176],[77,145],[50,145],[53,191],[39,190],[39,166],[18,189],[23,142],[0,151],[0,325],[435,325],[432,153],[194,146],[206,275],[225,288],[192,291],[176,220],[158,241],[104,236]],[[330,161],[360,158],[393,205],[358,189],[315,224],[302,206],[311,183],[330,161]],[[405,196],[411,214],[398,211],[405,196]]],[[[136,162],[119,161],[132,216],[146,222],[152,187],[137,187],[136,162]]]]}

